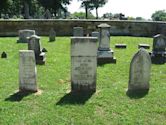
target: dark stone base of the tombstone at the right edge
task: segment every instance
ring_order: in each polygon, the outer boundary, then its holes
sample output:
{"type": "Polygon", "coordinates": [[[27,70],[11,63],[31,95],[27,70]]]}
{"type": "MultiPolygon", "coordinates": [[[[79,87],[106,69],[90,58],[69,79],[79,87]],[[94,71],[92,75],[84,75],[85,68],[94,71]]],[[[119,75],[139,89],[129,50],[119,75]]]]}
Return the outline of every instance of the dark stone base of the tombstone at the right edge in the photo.
{"type": "Polygon", "coordinates": [[[164,64],[166,63],[166,52],[163,54],[149,53],[153,64],[164,64]]]}

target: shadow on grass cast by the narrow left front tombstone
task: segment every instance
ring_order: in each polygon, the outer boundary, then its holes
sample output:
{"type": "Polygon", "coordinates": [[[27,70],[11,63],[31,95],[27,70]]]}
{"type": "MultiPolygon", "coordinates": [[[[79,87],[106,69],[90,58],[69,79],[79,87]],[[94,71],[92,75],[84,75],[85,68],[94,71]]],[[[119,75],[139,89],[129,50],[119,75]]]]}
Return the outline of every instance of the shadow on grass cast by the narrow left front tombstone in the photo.
{"type": "Polygon", "coordinates": [[[12,95],[10,95],[8,98],[5,99],[5,101],[11,101],[11,102],[19,102],[21,101],[24,97],[32,94],[33,92],[22,92],[18,91],[12,95]]]}

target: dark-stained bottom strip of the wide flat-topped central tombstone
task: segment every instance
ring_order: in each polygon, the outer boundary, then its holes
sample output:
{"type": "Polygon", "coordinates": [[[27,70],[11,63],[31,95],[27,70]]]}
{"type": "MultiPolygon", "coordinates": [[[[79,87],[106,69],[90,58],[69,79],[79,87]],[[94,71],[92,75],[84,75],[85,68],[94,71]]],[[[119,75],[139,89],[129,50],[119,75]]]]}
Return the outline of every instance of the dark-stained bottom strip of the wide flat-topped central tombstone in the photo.
{"type": "Polygon", "coordinates": [[[96,92],[96,84],[71,84],[71,92],[72,93],[93,93],[96,92]]]}

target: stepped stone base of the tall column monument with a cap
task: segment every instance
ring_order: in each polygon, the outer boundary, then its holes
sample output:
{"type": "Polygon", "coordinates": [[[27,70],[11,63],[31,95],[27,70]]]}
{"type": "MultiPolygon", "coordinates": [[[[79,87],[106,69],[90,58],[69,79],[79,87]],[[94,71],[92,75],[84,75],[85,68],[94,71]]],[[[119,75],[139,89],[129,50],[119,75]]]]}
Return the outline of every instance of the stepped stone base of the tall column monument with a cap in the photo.
{"type": "Polygon", "coordinates": [[[103,65],[107,63],[116,63],[116,58],[113,56],[113,50],[110,51],[98,51],[97,64],[103,65]]]}

